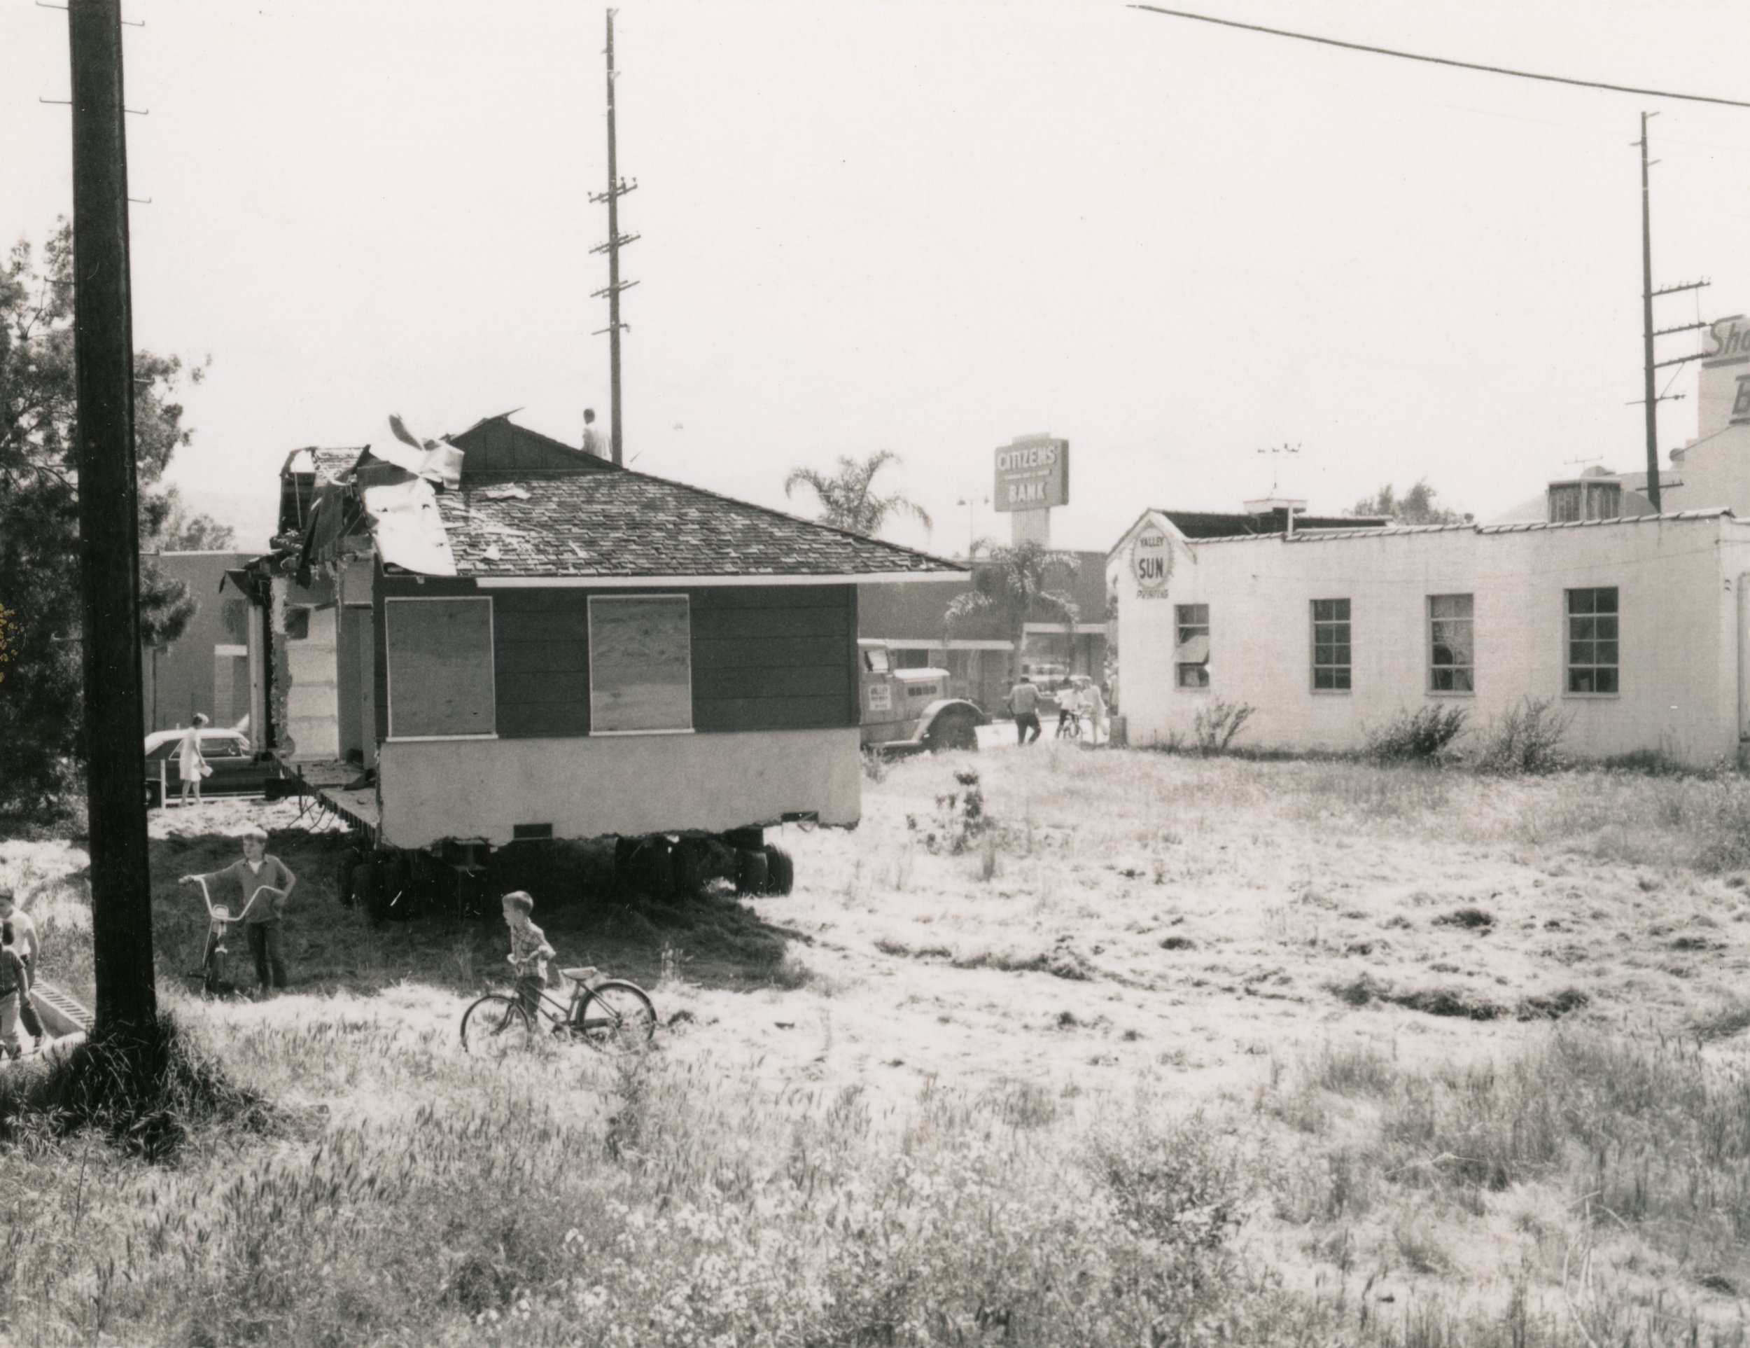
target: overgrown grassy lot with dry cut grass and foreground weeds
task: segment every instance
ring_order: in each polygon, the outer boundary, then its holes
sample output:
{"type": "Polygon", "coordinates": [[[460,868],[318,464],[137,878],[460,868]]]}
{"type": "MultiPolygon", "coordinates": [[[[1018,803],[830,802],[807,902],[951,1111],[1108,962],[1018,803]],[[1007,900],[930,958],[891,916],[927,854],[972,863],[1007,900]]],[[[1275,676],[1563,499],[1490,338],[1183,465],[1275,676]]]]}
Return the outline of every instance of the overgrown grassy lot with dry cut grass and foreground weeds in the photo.
{"type": "MultiPolygon", "coordinates": [[[[154,816],[163,1001],[264,1105],[158,1161],[12,1115],[0,1339],[1750,1341],[1745,781],[1050,744],[877,777],[858,830],[788,830],[789,896],[542,895],[567,959],[653,987],[620,1063],[460,1054],[502,928],[373,930],[290,807],[154,816]],[[203,1003],[175,877],[245,816],[301,875],[296,982],[203,1003]]],[[[89,991],[82,867],[0,844],[89,991]]]]}

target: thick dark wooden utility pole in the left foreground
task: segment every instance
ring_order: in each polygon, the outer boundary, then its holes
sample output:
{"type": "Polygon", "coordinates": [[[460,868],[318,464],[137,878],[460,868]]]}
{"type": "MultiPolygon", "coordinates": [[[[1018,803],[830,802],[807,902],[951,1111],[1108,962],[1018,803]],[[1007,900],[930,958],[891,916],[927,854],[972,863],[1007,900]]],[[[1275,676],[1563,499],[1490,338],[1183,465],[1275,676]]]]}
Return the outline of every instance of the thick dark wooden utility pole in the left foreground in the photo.
{"type": "Polygon", "coordinates": [[[68,0],[74,68],[74,355],[86,798],[96,1033],[158,1022],[140,713],[140,525],[128,289],[121,0],[68,0]]]}

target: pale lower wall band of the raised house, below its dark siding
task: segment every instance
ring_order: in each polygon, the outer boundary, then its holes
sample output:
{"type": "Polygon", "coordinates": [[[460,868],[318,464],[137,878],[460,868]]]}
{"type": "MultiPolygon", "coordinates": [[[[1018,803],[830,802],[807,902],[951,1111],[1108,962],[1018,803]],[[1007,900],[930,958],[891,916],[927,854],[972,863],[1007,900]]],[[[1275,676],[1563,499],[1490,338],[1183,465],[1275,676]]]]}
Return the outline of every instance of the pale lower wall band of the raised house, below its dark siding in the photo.
{"type": "Polygon", "coordinates": [[[383,842],[444,837],[499,846],[514,825],[588,839],[719,833],[812,811],[854,825],[863,811],[858,728],[569,739],[388,741],[378,781],[383,842]]]}

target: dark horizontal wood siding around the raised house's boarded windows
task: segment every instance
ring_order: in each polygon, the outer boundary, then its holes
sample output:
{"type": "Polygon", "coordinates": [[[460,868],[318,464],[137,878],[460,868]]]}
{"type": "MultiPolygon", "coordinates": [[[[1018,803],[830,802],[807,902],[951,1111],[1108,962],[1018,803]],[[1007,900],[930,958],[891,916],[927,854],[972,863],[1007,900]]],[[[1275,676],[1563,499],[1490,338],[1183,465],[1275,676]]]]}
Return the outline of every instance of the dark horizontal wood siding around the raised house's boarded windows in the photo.
{"type": "MultiPolygon", "coordinates": [[[[394,595],[492,595],[502,739],[590,734],[590,595],[639,590],[476,590],[466,579],[376,576],[376,630],[394,595]]],[[[649,593],[676,593],[653,586],[649,593]]],[[[814,730],[858,723],[854,585],[688,590],[693,728],[814,730]]],[[[376,735],[388,734],[388,676],[376,642],[376,735]]]]}

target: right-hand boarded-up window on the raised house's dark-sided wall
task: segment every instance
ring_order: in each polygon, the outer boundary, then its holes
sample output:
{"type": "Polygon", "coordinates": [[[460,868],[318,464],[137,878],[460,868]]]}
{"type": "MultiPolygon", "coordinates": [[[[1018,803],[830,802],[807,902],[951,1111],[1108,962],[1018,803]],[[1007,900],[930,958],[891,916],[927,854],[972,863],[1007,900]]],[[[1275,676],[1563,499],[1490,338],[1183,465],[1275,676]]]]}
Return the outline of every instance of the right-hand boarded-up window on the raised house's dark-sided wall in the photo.
{"type": "Polygon", "coordinates": [[[693,728],[686,595],[590,595],[590,734],[693,728]]]}

